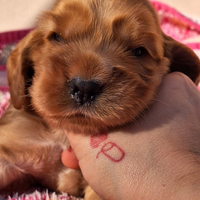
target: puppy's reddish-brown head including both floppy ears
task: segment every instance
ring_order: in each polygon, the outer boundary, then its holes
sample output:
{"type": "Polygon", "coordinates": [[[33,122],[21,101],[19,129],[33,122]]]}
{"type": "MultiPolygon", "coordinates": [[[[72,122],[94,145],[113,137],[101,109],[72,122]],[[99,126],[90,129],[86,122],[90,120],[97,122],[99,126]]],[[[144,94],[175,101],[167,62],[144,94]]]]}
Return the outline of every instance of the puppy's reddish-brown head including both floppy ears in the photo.
{"type": "Polygon", "coordinates": [[[147,0],[60,0],[8,60],[14,106],[96,134],[134,120],[170,71],[194,82],[199,59],[165,36],[147,0]]]}

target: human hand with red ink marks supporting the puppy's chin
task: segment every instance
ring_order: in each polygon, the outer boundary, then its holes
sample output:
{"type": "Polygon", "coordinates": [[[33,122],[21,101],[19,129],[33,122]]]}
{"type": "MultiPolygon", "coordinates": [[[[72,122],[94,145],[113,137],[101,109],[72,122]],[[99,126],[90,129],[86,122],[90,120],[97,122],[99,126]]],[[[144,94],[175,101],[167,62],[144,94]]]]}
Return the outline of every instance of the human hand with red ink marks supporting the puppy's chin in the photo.
{"type": "Polygon", "coordinates": [[[164,77],[136,122],[101,137],[66,135],[73,150],[63,163],[80,166],[104,200],[200,199],[200,92],[181,73],[164,77]]]}

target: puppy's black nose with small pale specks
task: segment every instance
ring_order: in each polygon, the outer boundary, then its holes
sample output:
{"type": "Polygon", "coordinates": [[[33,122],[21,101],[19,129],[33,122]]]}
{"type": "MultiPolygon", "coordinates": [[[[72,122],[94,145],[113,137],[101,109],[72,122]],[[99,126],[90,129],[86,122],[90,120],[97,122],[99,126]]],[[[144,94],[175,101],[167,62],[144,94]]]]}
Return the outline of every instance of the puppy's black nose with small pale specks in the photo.
{"type": "Polygon", "coordinates": [[[77,105],[89,104],[95,100],[100,93],[101,85],[98,81],[84,81],[80,78],[72,79],[69,82],[71,97],[77,105]]]}

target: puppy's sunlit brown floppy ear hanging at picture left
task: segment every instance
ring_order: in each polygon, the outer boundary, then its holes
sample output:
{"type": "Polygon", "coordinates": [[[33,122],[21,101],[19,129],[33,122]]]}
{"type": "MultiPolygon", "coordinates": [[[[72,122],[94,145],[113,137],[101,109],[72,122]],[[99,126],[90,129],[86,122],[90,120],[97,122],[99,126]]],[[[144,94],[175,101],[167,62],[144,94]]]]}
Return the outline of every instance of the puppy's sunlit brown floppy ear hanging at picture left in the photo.
{"type": "Polygon", "coordinates": [[[15,108],[29,104],[28,87],[34,75],[32,52],[36,46],[36,31],[30,32],[13,50],[7,61],[7,76],[11,100],[15,108]]]}

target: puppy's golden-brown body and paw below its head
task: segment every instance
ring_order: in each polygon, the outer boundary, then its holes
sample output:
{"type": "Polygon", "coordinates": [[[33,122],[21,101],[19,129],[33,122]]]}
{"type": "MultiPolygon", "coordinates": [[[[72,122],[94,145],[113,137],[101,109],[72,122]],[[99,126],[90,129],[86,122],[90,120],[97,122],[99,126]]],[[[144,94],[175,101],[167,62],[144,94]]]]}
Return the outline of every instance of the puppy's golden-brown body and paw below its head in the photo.
{"type": "Polygon", "coordinates": [[[80,171],[67,169],[61,162],[67,146],[62,131],[50,129],[40,117],[11,105],[0,121],[0,193],[41,185],[83,195],[86,183],[80,171]]]}

